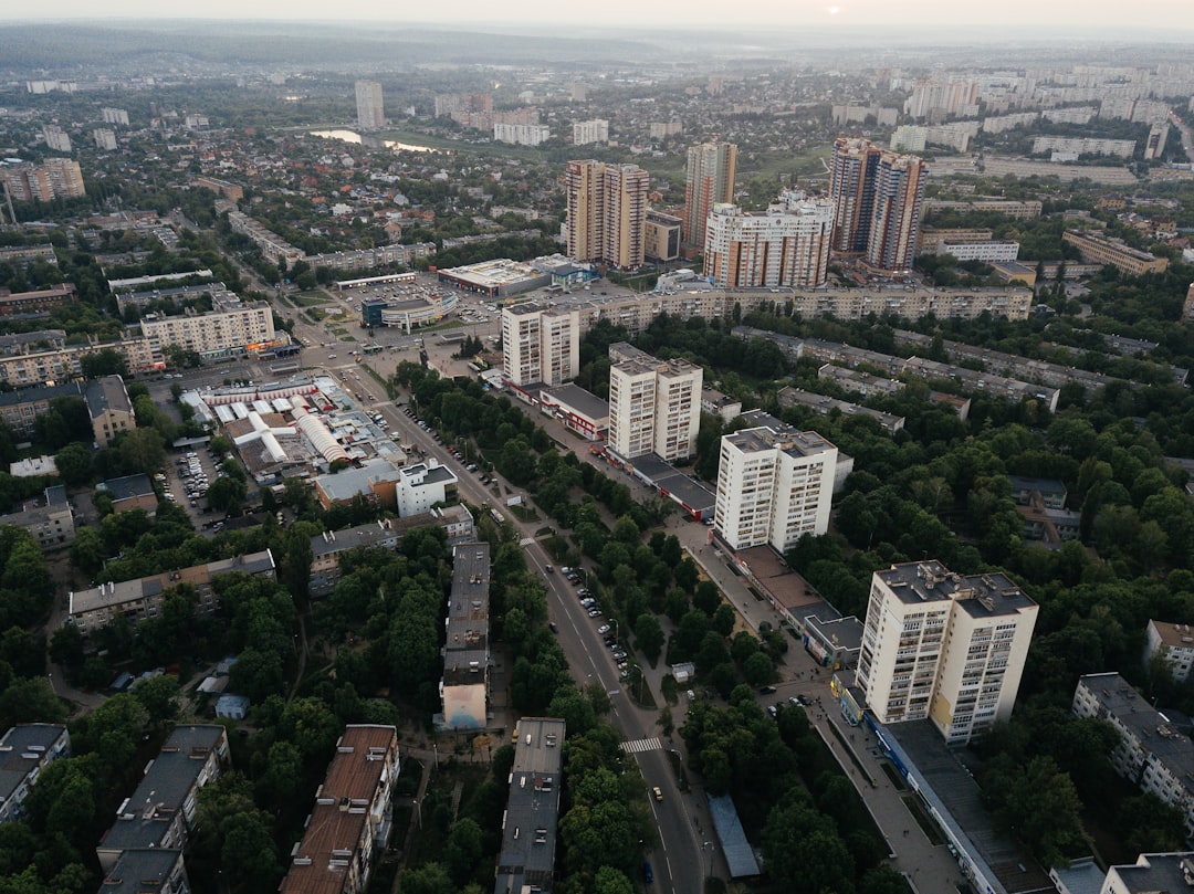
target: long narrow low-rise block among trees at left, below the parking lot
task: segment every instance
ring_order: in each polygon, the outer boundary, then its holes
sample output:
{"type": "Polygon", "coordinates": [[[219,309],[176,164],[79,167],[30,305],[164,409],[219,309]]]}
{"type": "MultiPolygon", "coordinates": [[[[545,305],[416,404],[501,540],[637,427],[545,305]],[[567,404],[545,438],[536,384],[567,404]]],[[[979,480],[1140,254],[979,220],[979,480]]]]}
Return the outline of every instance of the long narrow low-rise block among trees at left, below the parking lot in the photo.
{"type": "Polygon", "coordinates": [[[73,591],[68,602],[68,623],[79,628],[84,635],[88,635],[107,627],[116,617],[127,617],[134,623],[156,617],[166,591],[179,584],[190,584],[195,587],[199,597],[196,605],[198,611],[211,612],[219,606],[213,581],[219,575],[230,572],[273,580],[276,572],[273,554],[266,549],[261,553],[220,559],[207,565],[196,565],[148,578],[100,584],[90,590],[73,591]]]}

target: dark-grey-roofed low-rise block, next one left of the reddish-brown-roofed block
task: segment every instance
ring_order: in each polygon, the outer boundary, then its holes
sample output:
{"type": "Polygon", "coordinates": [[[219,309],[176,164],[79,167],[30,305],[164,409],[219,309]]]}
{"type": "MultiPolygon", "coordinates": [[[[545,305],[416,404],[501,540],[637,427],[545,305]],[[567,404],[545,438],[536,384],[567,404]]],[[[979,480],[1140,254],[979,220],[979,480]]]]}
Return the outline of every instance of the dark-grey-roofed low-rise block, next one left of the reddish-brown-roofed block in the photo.
{"type": "Polygon", "coordinates": [[[185,850],[199,789],[219,778],[229,760],[228,730],[222,726],[174,727],[96,847],[100,868],[111,873],[125,851],[185,850]]]}

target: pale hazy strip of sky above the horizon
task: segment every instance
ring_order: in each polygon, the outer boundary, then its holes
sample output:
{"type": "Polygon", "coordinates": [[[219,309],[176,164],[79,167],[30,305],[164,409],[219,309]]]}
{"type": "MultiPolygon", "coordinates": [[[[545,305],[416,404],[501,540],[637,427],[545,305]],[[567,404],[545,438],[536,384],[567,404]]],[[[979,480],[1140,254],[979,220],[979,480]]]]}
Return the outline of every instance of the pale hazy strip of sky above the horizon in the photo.
{"type": "MultiPolygon", "coordinates": [[[[285,19],[339,21],[410,21],[454,27],[494,24],[568,24],[567,7],[559,0],[518,0],[496,5],[488,0],[453,0],[449,4],[411,0],[203,0],[164,4],[161,0],[55,0],[32,5],[0,4],[0,20],[197,18],[285,19]]],[[[1147,6],[1121,0],[1001,0],[971,4],[966,0],[755,0],[751,4],[708,0],[605,0],[595,25],[614,26],[672,24],[773,27],[801,25],[870,26],[905,24],[910,27],[944,27],[958,31],[981,25],[1072,25],[1089,32],[1106,29],[1113,36],[1147,30],[1169,35],[1194,32],[1194,2],[1168,0],[1147,6]]],[[[1002,30],[1002,29],[1001,29],[1002,30]]],[[[981,35],[975,35],[980,37],[981,35]]],[[[1028,35],[1026,35],[1027,37],[1028,35]]]]}

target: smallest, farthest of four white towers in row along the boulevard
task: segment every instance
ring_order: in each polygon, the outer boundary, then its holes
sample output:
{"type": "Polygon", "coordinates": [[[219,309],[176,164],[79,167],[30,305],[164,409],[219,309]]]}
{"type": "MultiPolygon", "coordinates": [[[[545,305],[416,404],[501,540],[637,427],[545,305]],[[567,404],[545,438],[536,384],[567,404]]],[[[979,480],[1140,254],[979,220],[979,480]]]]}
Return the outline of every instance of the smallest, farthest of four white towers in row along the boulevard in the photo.
{"type": "Polygon", "coordinates": [[[501,350],[512,384],[562,384],[580,369],[580,312],[536,302],[503,308],[501,350]]]}

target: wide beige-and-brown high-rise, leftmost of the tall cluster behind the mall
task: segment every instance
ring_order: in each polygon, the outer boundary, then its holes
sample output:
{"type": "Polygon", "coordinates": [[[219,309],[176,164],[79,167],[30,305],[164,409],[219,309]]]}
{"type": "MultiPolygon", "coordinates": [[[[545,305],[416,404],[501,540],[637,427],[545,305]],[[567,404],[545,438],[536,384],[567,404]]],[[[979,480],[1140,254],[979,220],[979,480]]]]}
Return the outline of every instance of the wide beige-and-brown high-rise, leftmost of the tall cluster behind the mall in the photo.
{"type": "Polygon", "coordinates": [[[586,160],[570,161],[566,177],[568,255],[621,270],[641,267],[647,172],[636,165],[586,160]]]}

